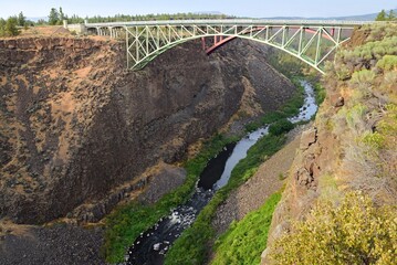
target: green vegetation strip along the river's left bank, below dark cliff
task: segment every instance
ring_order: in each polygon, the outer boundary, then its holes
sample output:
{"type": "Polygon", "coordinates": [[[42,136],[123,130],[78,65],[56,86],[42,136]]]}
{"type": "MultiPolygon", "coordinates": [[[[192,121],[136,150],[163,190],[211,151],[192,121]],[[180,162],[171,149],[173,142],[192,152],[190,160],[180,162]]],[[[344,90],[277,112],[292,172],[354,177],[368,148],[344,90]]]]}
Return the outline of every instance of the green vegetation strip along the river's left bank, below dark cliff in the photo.
{"type": "Polygon", "coordinates": [[[187,170],[185,183],[164,195],[156,204],[143,205],[134,202],[115,209],[106,218],[105,242],[102,250],[106,261],[109,263],[123,262],[124,254],[134,240],[143,231],[152,227],[161,216],[168,214],[170,209],[184,203],[190,197],[208,160],[228,142],[234,140],[217,135],[205,142],[200,153],[185,163],[187,170]]]}

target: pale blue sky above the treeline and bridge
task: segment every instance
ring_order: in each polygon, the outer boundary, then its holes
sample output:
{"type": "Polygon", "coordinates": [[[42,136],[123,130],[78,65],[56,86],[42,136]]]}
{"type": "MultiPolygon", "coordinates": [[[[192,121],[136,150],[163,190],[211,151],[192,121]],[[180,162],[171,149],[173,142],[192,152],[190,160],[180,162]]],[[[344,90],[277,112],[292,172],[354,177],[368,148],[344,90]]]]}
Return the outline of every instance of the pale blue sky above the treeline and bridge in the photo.
{"type": "Polygon", "coordinates": [[[23,12],[25,17],[48,17],[62,7],[67,15],[113,15],[219,11],[252,18],[343,17],[377,13],[397,8],[396,0],[0,0],[0,17],[23,12]]]}

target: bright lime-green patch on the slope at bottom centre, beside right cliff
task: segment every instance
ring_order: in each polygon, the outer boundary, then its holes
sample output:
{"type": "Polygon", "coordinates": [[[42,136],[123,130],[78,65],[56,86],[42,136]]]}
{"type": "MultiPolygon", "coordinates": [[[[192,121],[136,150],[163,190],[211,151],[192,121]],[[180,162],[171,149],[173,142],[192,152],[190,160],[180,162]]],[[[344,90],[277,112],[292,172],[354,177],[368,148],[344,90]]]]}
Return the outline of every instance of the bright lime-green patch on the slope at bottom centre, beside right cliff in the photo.
{"type": "Polygon", "coordinates": [[[281,193],[274,193],[257,211],[240,222],[232,223],[216,242],[213,265],[259,264],[261,252],[267,247],[268,232],[281,193]]]}

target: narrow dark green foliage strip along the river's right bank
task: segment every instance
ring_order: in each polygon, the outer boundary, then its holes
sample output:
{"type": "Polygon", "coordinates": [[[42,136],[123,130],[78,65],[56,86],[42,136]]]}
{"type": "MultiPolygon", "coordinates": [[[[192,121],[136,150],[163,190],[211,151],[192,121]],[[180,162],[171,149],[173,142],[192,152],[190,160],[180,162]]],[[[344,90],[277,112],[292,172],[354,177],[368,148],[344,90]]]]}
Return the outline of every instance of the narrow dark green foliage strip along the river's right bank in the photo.
{"type": "Polygon", "coordinates": [[[269,134],[248,150],[247,157],[240,160],[231,172],[228,184],[215,194],[192,226],[187,229],[170,247],[165,264],[203,264],[206,262],[209,252],[208,244],[215,236],[211,222],[218,206],[232,190],[251,178],[268,157],[280,150],[284,142],[285,136],[269,134]]]}

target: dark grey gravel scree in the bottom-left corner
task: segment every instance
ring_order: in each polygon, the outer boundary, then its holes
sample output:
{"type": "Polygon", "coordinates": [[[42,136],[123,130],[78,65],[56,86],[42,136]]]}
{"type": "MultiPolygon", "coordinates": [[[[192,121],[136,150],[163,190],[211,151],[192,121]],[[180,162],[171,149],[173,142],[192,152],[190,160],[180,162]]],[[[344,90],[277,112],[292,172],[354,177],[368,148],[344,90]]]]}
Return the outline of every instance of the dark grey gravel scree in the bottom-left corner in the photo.
{"type": "Polygon", "coordinates": [[[0,240],[0,264],[80,265],[106,264],[100,257],[103,230],[56,224],[33,226],[23,235],[8,234],[0,240]]]}

